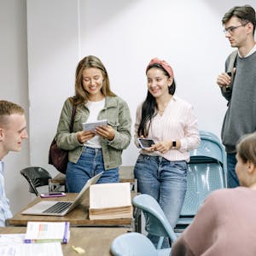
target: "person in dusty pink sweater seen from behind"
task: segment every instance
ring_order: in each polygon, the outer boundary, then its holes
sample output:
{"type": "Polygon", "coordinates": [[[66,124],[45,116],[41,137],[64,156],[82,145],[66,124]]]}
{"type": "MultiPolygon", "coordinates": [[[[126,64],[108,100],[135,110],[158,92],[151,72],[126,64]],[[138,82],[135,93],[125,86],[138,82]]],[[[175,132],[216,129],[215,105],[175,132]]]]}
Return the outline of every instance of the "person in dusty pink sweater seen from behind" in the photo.
{"type": "Polygon", "coordinates": [[[172,256],[256,255],[256,132],[236,145],[241,187],[218,189],[172,247],[172,256]]]}

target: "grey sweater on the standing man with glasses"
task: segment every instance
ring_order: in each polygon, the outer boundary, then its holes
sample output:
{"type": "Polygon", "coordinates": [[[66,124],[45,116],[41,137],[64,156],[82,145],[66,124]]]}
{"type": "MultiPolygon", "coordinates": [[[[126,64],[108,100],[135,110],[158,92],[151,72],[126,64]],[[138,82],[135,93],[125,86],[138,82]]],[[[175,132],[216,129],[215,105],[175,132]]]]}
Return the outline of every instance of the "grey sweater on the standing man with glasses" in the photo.
{"type": "MultiPolygon", "coordinates": [[[[225,63],[229,65],[230,56],[225,63]]],[[[225,97],[225,92],[222,90],[225,97]]],[[[236,57],[236,75],[229,107],[221,131],[227,153],[236,152],[236,143],[244,134],[256,131],[256,52],[236,57]]]]}

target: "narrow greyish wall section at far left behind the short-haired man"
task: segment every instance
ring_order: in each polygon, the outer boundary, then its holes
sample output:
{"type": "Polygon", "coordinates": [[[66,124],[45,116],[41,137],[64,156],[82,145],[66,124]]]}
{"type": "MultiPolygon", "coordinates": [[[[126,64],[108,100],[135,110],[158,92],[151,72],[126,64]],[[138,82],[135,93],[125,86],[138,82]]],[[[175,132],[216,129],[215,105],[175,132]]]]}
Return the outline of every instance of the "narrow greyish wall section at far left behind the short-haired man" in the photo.
{"type": "MultiPolygon", "coordinates": [[[[28,125],[26,0],[1,0],[0,32],[0,98],[24,107],[28,125]]],[[[10,153],[4,162],[6,194],[15,213],[30,198],[26,180],[20,176],[20,169],[30,164],[28,140],[20,153],[10,153]]]]}

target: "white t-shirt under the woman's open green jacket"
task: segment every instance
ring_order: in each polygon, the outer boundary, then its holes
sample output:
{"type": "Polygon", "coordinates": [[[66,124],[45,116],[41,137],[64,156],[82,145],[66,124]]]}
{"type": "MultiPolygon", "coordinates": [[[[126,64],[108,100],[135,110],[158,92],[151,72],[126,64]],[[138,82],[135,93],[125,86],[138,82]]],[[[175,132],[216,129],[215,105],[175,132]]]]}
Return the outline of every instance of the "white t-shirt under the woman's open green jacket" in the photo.
{"type": "MultiPolygon", "coordinates": [[[[90,114],[89,118],[86,122],[95,122],[98,118],[99,113],[102,111],[102,109],[105,107],[105,99],[103,99],[100,102],[90,102],[88,101],[86,103],[86,107],[89,109],[90,114]]],[[[89,141],[84,143],[84,146],[90,147],[90,148],[102,148],[100,143],[100,137],[96,135],[95,137],[91,138],[89,141]]]]}

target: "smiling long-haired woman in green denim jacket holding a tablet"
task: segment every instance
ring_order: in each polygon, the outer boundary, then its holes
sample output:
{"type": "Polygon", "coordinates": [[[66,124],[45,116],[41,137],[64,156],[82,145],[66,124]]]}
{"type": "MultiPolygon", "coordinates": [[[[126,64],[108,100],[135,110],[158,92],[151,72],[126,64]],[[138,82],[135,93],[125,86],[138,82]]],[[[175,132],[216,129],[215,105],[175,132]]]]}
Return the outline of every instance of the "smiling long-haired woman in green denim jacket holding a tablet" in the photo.
{"type": "Polygon", "coordinates": [[[79,61],[75,96],[64,103],[55,138],[59,148],[69,151],[68,192],[79,192],[99,172],[103,174],[98,183],[119,182],[121,154],[131,142],[131,113],[127,103],[110,90],[108,72],[96,56],[79,61]],[[70,133],[73,105],[77,109],[70,133]],[[107,119],[108,125],[83,131],[83,123],[101,119],[107,119]]]}

